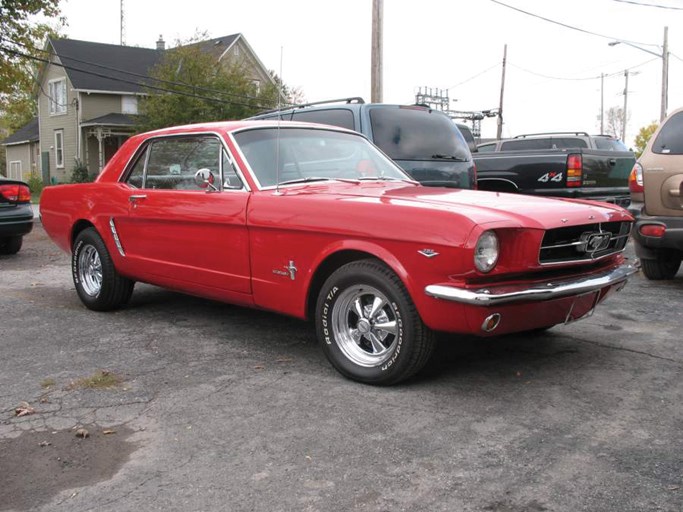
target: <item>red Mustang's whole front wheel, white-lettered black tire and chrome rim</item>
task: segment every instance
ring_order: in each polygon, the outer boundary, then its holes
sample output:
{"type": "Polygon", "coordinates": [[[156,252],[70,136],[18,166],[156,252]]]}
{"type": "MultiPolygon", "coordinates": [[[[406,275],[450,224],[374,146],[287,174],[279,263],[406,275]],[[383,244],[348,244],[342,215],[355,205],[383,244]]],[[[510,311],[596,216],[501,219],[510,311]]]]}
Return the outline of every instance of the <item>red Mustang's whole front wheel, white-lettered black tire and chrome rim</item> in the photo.
{"type": "Polygon", "coordinates": [[[398,276],[370,259],[348,263],[325,281],[316,331],[332,366],[367,384],[390,385],[412,377],[435,345],[434,333],[398,276]]]}

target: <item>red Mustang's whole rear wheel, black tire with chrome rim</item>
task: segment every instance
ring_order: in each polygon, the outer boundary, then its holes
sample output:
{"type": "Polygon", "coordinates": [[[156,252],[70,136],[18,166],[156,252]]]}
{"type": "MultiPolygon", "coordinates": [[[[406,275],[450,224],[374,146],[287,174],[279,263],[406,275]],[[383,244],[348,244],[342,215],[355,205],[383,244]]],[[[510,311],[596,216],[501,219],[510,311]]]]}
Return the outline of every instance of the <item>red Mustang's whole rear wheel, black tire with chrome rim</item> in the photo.
{"type": "Polygon", "coordinates": [[[81,302],[93,311],[111,311],[125,305],[135,282],[114,268],[109,251],[95,228],[81,231],[74,241],[71,274],[81,302]]]}

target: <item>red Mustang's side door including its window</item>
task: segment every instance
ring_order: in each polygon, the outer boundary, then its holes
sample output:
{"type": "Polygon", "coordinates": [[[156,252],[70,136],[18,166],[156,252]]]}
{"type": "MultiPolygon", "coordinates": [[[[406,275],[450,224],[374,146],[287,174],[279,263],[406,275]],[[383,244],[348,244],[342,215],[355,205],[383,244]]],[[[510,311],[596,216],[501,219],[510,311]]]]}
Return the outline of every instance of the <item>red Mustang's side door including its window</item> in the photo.
{"type": "Polygon", "coordinates": [[[217,136],[153,139],[125,181],[129,210],[117,230],[136,273],[183,290],[251,293],[249,192],[217,136]],[[211,185],[197,184],[200,169],[211,185]]]}

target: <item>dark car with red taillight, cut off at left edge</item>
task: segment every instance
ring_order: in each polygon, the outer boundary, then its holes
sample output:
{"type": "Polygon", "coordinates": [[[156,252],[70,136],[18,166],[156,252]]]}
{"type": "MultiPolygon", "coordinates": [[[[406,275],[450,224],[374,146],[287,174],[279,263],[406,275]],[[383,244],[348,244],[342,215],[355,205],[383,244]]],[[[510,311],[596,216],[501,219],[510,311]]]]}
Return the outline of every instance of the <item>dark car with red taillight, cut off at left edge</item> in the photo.
{"type": "Polygon", "coordinates": [[[16,254],[33,229],[31,191],[23,181],[0,177],[0,254],[16,254]]]}

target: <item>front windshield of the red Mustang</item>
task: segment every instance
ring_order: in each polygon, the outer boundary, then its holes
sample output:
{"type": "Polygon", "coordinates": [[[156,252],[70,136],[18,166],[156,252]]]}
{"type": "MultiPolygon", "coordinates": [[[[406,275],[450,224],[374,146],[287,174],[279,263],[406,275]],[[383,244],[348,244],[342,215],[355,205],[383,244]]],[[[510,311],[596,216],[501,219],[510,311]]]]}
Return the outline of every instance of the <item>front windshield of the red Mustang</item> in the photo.
{"type": "Polygon", "coordinates": [[[234,137],[261,188],[324,180],[410,180],[367,139],[352,133],[281,127],[234,137]]]}

